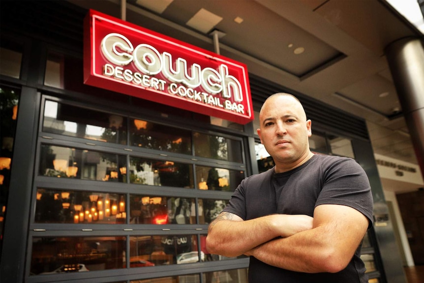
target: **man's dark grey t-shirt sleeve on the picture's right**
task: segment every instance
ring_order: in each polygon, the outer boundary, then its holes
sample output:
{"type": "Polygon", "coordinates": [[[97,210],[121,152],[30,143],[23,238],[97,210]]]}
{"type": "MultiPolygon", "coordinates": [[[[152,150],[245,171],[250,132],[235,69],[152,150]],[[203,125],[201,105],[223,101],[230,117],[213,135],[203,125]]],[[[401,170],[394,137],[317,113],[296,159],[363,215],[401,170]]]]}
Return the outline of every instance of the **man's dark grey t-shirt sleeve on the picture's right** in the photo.
{"type": "Polygon", "coordinates": [[[315,203],[350,206],[368,219],[372,226],[373,200],[368,177],[354,159],[339,158],[325,167],[323,187],[315,203]]]}

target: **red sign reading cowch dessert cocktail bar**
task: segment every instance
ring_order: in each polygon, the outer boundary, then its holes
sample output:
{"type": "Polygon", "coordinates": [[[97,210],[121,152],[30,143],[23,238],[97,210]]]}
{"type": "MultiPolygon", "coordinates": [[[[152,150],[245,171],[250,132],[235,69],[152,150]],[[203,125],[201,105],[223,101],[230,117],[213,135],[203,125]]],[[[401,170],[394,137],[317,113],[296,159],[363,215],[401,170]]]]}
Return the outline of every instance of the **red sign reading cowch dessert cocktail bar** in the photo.
{"type": "Polygon", "coordinates": [[[90,10],[84,83],[246,124],[253,106],[245,64],[90,10]]]}

